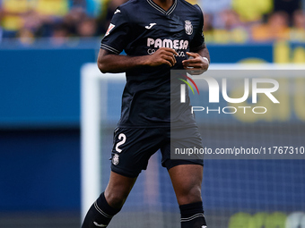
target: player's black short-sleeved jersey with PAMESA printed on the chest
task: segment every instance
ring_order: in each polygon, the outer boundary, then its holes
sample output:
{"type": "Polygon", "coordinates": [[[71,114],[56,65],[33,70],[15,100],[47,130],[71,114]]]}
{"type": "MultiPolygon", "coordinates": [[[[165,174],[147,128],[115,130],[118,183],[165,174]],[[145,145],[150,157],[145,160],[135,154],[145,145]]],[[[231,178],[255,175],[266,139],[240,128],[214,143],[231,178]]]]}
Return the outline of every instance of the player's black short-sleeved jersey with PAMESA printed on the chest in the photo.
{"type": "MultiPolygon", "coordinates": [[[[101,48],[114,54],[152,55],[160,47],[177,51],[177,63],[126,72],[119,127],[170,126],[170,70],[183,69],[186,52],[205,45],[204,18],[198,5],[175,0],[168,11],[153,0],[130,0],[115,11],[101,48]]],[[[190,114],[189,104],[185,110],[190,114]]]]}

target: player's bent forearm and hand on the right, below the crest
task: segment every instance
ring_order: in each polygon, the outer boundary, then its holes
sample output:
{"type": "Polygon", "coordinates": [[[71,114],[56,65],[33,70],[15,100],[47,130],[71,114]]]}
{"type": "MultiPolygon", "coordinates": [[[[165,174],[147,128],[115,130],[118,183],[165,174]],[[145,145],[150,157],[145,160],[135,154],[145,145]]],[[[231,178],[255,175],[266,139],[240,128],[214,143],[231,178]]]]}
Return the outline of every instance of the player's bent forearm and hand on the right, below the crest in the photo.
{"type": "Polygon", "coordinates": [[[204,45],[196,53],[187,52],[188,59],[183,60],[184,69],[196,71],[196,74],[206,72],[210,64],[210,54],[207,47],[204,45]]]}

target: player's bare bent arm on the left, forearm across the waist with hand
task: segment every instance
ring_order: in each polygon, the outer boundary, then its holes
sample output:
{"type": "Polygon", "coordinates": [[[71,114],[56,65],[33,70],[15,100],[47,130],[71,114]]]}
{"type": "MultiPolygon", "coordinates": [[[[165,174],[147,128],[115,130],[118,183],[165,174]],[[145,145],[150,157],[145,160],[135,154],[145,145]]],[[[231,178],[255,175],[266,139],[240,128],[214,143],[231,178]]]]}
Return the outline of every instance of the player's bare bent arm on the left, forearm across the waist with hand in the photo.
{"type": "Polygon", "coordinates": [[[126,72],[140,66],[158,66],[167,64],[170,67],[176,63],[174,55],[178,53],[169,48],[161,47],[153,55],[127,56],[117,55],[100,48],[98,67],[100,72],[126,72]]]}

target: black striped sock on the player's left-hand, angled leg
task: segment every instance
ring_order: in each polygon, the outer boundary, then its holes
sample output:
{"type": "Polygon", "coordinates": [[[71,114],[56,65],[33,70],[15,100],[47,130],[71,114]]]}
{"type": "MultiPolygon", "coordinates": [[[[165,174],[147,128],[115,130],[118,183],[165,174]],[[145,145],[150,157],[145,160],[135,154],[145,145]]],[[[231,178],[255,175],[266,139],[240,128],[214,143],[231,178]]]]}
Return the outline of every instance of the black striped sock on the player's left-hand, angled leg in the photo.
{"type": "Polygon", "coordinates": [[[118,214],[120,209],[121,208],[116,209],[110,207],[103,192],[87,212],[87,215],[83,220],[82,228],[105,228],[110,223],[111,218],[118,214]]]}

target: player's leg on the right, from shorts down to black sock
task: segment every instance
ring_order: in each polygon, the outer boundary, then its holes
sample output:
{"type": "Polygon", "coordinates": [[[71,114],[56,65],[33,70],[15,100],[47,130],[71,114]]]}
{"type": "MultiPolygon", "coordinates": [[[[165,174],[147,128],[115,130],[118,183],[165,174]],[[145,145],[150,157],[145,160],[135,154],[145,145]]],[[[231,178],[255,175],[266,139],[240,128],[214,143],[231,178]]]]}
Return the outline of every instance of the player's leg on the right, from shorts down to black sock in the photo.
{"type": "Polygon", "coordinates": [[[161,148],[162,165],[169,173],[181,213],[182,228],[204,228],[205,215],[201,198],[203,156],[176,155],[176,148],[202,148],[197,127],[170,129],[161,148]],[[171,151],[171,153],[170,153],[171,151]]]}

